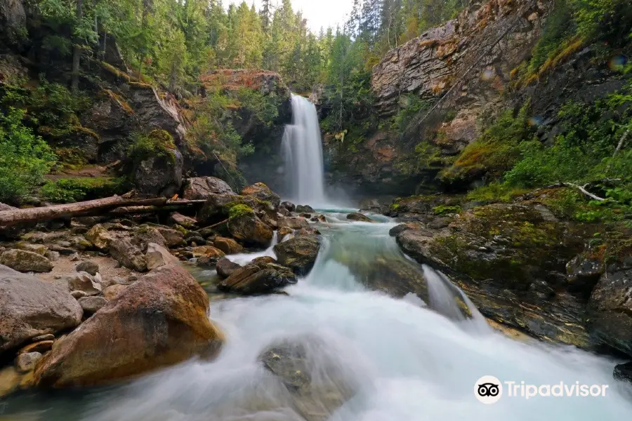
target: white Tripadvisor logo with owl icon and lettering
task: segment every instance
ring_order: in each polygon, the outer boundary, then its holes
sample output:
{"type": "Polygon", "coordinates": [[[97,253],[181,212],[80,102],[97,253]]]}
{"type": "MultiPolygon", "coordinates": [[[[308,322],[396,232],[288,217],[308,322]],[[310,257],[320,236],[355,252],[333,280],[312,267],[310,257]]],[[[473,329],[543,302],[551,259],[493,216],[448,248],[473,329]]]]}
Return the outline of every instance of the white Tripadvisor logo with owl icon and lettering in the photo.
{"type": "Polygon", "coordinates": [[[555,385],[529,385],[525,382],[501,382],[493,375],[484,375],[474,384],[474,396],[485,404],[498,402],[503,393],[510,398],[532,399],[535,397],[563,398],[577,396],[604,397],[609,385],[581,385],[579,382],[559,382],[555,385]]]}

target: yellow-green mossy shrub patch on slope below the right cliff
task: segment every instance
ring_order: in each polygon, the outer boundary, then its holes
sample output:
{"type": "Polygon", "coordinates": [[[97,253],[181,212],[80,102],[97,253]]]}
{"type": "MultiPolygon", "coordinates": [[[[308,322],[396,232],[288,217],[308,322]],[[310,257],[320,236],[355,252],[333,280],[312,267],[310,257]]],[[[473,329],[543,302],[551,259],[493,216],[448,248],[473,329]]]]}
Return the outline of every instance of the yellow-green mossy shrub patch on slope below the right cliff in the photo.
{"type": "Polygon", "coordinates": [[[452,166],[440,173],[444,182],[471,182],[483,176],[498,178],[520,158],[520,142],[532,138],[527,119],[528,105],[518,116],[511,112],[502,114],[480,138],[470,143],[452,166]]]}

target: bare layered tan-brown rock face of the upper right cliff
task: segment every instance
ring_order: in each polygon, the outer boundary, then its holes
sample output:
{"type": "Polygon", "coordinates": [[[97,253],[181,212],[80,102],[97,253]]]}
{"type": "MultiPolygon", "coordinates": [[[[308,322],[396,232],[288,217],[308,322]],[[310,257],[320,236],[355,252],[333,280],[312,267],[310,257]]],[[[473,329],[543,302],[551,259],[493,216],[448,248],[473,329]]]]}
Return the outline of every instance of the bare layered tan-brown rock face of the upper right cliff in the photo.
{"type": "Polygon", "coordinates": [[[381,114],[390,115],[397,112],[400,95],[438,97],[481,56],[456,96],[461,104],[498,98],[511,70],[531,53],[552,3],[475,2],[456,19],[388,51],[373,68],[371,84],[377,97],[376,107],[381,114]],[[506,36],[494,45],[506,30],[506,36]],[[481,78],[482,72],[489,74],[481,78]]]}

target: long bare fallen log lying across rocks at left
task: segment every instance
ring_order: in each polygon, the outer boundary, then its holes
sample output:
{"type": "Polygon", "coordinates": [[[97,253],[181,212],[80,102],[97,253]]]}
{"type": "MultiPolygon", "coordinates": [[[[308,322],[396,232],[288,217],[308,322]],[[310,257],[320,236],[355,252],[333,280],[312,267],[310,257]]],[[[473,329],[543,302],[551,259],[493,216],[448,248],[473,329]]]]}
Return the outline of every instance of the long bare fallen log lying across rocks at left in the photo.
{"type": "Polygon", "coordinates": [[[138,198],[135,192],[123,196],[112,196],[104,199],[68,203],[65,205],[41,206],[39,208],[4,210],[0,212],[0,227],[11,227],[26,222],[42,222],[58,218],[74,218],[77,216],[105,213],[115,208],[142,206],[159,208],[174,204],[203,203],[204,201],[171,201],[165,197],[138,198]]]}

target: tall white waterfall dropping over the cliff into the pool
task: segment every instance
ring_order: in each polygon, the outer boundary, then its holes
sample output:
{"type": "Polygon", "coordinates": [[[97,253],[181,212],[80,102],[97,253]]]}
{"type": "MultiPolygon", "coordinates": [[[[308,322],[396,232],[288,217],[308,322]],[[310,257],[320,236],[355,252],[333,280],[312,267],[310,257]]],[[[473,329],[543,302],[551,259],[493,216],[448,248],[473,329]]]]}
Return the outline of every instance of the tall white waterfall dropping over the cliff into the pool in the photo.
{"type": "Polygon", "coordinates": [[[292,123],[285,127],[282,141],[289,199],[298,204],[322,204],[324,171],[322,140],[316,107],[292,94],[292,123]]]}

